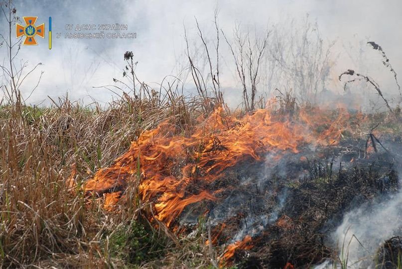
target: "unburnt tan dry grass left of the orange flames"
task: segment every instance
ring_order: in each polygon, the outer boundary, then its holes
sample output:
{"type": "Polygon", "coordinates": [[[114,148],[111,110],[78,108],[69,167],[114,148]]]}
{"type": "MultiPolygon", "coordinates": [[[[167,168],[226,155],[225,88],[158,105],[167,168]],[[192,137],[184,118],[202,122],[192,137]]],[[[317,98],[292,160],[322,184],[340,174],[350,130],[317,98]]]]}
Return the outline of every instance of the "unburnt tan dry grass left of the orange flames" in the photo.
{"type": "MultiPolygon", "coordinates": [[[[0,266],[131,267],[145,264],[138,261],[141,250],[174,247],[174,235],[141,218],[146,205],[136,198],[137,181],[118,210],[105,212],[101,202],[88,203],[82,188],[70,189],[67,178],[74,172],[78,185],[85,184],[162,120],[185,131],[201,105],[151,93],[141,100],[124,95],[103,110],[67,99],[51,108],[0,107],[0,266]]],[[[171,257],[178,255],[174,250],[171,257]]]]}

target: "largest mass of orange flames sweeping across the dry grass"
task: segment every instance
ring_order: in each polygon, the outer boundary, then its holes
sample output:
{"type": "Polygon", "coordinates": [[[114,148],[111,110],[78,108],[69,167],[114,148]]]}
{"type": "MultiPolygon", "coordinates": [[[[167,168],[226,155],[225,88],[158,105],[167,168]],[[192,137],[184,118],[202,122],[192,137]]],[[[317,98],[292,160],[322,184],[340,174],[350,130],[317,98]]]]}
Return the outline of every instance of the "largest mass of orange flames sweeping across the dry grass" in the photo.
{"type": "Polygon", "coordinates": [[[263,161],[268,153],[274,158],[297,153],[306,144],[335,144],[349,129],[348,119],[344,109],[303,109],[297,119],[261,109],[237,119],[220,108],[200,117],[188,132],[163,122],[143,132],[113,165],[100,169],[85,191],[105,196],[105,208],[111,210],[130,180],[140,180],[142,201],[152,202],[155,218],[174,227],[186,206],[217,200],[221,190],[211,186],[228,167],[245,160],[263,161]]]}

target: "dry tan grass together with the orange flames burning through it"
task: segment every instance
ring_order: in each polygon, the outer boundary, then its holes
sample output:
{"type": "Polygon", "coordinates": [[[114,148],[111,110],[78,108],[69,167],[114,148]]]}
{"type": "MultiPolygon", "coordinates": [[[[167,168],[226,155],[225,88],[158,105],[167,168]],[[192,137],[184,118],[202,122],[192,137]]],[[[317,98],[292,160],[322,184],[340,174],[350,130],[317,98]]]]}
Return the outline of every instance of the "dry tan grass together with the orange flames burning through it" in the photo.
{"type": "MultiPolygon", "coordinates": [[[[222,199],[233,187],[225,171],[239,163],[333,146],[370,125],[345,109],[289,113],[277,104],[242,117],[220,108],[203,114],[182,97],[124,96],[106,110],[68,100],[1,107],[1,266],[229,265],[237,249],[260,241],[231,243],[224,224],[211,228],[204,217],[183,233],[188,205],[222,199]]],[[[284,218],[280,229],[291,226],[284,218]]]]}

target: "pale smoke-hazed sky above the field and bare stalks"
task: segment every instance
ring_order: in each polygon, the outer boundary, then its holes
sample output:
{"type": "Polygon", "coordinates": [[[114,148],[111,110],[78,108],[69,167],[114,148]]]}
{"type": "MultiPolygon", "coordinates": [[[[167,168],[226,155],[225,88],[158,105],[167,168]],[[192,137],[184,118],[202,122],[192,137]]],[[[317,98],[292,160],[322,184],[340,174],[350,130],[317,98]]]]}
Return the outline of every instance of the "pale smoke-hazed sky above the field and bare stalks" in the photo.
{"type": "MultiPolygon", "coordinates": [[[[57,98],[66,94],[83,103],[96,100],[106,104],[116,94],[99,87],[113,84],[113,78],[123,79],[123,55],[126,51],[134,52],[139,80],[158,89],[165,76],[176,76],[183,71],[187,74],[184,28],[191,54],[197,56],[196,48],[201,43],[195,18],[208,44],[213,45],[215,10],[218,10],[219,27],[230,40],[237,24],[257,33],[264,33],[267,27],[272,28],[273,25],[288,32],[291,31],[289,27],[299,26],[308,14],[308,20],[317,23],[324,42],[329,44],[336,40],[331,58],[334,78],[349,67],[360,68],[376,76],[382,68],[381,57],[365,45],[367,41],[380,44],[396,72],[402,74],[401,0],[15,0],[14,4],[18,16],[38,16],[37,24],[44,22],[46,30],[48,17],[52,17],[52,49],[48,49],[46,32],[45,39],[36,37],[37,46],[21,46],[16,58],[17,62],[27,61],[26,70],[42,63],[21,86],[23,96],[28,96],[43,72],[39,86],[27,100],[30,104],[48,104],[47,96],[57,98]],[[289,23],[291,20],[295,21],[294,24],[289,23]],[[75,31],[77,24],[114,23],[127,24],[127,31],[120,32],[135,32],[136,38],[65,38],[67,32],[79,32],[75,31]],[[66,30],[66,24],[73,24],[74,29],[66,30]],[[60,38],[56,38],[57,33],[61,34],[60,38]],[[376,68],[372,69],[373,66],[376,68]]],[[[3,17],[0,23],[0,32],[6,33],[3,17]]],[[[119,31],[105,31],[105,34],[109,32],[119,31]]],[[[241,87],[233,57],[223,40],[221,53],[221,85],[226,89],[226,95],[233,94],[238,98],[241,87]]],[[[0,59],[3,61],[6,56],[6,48],[2,45],[0,59]]],[[[393,78],[391,75],[384,76],[384,81],[393,78]]],[[[182,79],[184,92],[193,92],[191,80],[182,79]]],[[[378,80],[381,82],[382,78],[378,80]]],[[[5,83],[4,76],[1,81],[5,83]]],[[[337,83],[334,79],[333,88],[342,87],[337,83]]],[[[285,87],[282,84],[279,86],[285,87]]]]}

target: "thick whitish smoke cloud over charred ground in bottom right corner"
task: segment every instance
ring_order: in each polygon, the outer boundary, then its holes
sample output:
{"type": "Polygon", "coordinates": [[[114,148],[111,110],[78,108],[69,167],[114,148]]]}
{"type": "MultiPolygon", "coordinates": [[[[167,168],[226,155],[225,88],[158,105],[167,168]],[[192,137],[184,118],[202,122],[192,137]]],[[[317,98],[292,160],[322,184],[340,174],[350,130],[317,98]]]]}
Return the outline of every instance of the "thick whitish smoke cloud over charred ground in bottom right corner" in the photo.
{"type": "MultiPolygon", "coordinates": [[[[384,177],[383,180],[387,180],[384,177]]],[[[400,179],[401,182],[401,179],[400,179]]],[[[402,190],[367,202],[344,215],[332,235],[337,244],[338,261],[325,261],[315,269],[375,268],[382,244],[402,232],[402,190]],[[347,262],[346,262],[347,261],[347,262]]]]}

